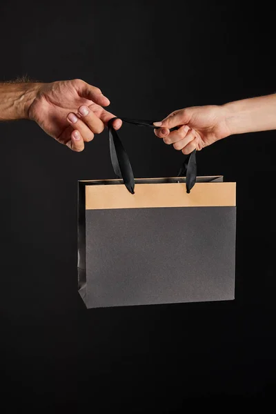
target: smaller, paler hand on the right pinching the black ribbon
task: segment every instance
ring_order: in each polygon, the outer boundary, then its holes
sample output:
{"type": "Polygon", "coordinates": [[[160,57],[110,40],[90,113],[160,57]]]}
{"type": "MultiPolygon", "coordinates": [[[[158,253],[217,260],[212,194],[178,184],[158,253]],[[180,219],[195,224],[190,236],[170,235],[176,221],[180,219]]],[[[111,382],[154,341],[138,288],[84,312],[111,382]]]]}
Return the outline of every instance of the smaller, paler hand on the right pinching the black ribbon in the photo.
{"type": "Polygon", "coordinates": [[[227,110],[224,106],[194,106],[172,112],[161,122],[155,122],[155,135],[176,150],[190,154],[195,148],[213,144],[218,139],[230,135],[226,123],[227,110]],[[175,131],[170,128],[179,126],[175,131]]]}

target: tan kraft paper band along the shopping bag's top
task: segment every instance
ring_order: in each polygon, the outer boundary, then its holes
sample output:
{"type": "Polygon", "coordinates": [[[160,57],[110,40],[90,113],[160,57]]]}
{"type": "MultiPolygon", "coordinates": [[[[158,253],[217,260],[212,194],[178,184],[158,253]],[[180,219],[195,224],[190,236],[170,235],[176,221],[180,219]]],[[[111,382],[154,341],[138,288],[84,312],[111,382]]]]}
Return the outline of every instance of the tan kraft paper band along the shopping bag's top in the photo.
{"type": "Polygon", "coordinates": [[[236,183],[196,183],[190,194],[182,183],[86,186],[86,210],[108,208],[225,207],[236,205],[236,183]]]}

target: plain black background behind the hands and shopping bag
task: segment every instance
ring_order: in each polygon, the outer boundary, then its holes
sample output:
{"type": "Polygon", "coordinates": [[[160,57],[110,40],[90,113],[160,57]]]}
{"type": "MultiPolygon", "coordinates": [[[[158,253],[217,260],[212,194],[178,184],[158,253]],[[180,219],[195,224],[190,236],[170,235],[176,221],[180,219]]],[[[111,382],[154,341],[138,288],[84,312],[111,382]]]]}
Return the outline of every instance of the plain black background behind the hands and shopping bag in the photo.
{"type": "MultiPolygon", "coordinates": [[[[2,1],[0,79],[80,78],[116,115],[156,120],[275,92],[272,11],[221,3],[2,1]]],[[[96,311],[77,293],[77,180],[114,177],[107,133],[82,153],[30,121],[2,123],[0,136],[10,404],[170,413],[191,398],[273,395],[275,131],[229,137],[197,158],[199,175],[237,181],[235,301],[96,311]]],[[[121,137],[136,177],[176,174],[181,153],[151,130],[125,126],[121,137]]]]}

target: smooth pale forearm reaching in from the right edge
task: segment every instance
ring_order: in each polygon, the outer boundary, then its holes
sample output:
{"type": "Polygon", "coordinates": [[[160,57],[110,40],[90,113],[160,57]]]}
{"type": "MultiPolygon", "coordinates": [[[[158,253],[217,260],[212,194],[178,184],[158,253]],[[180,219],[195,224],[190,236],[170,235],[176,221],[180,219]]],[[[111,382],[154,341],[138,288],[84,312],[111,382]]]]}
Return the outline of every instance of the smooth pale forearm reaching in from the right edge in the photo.
{"type": "Polygon", "coordinates": [[[231,135],[276,129],[276,95],[230,102],[224,108],[231,135]]]}

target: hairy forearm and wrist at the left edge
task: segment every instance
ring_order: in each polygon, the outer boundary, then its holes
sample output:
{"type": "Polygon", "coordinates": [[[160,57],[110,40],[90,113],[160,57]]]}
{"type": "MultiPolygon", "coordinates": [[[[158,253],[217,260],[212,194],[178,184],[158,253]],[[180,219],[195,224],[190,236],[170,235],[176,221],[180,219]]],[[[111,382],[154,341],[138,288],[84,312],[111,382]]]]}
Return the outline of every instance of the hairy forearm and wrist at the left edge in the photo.
{"type": "Polygon", "coordinates": [[[0,83],[0,121],[28,119],[40,83],[0,83]]]}

